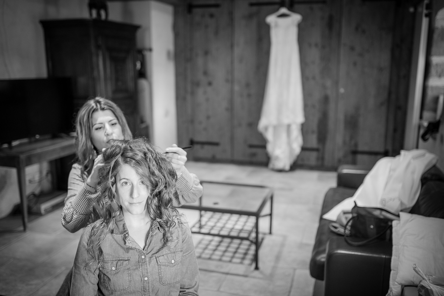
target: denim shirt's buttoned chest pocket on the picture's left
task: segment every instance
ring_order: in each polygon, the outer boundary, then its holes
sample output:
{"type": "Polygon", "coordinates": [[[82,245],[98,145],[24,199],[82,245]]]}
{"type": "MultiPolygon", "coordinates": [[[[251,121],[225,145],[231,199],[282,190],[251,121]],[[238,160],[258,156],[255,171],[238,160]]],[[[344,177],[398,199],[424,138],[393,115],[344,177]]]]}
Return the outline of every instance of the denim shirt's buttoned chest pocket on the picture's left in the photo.
{"type": "Polygon", "coordinates": [[[130,257],[101,260],[99,284],[107,291],[127,291],[131,287],[130,266],[130,257]]]}

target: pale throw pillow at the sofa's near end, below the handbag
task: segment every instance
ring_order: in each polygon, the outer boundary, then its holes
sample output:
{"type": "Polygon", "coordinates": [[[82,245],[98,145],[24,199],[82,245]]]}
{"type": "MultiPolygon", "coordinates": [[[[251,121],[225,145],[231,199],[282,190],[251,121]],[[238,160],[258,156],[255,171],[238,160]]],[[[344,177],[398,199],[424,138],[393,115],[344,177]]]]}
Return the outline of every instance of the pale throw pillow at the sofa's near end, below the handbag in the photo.
{"type": "Polygon", "coordinates": [[[393,253],[388,296],[401,295],[401,286],[417,285],[416,263],[426,274],[444,277],[444,219],[400,213],[393,221],[393,253]]]}

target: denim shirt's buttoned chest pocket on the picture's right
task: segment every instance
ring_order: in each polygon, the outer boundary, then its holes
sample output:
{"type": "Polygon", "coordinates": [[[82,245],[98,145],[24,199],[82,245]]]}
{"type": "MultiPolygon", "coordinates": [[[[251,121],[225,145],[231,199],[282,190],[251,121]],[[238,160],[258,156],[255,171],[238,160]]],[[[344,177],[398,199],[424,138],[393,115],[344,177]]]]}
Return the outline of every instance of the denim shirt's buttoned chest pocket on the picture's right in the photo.
{"type": "Polygon", "coordinates": [[[182,249],[155,255],[160,283],[164,286],[180,283],[182,277],[182,249]]]}

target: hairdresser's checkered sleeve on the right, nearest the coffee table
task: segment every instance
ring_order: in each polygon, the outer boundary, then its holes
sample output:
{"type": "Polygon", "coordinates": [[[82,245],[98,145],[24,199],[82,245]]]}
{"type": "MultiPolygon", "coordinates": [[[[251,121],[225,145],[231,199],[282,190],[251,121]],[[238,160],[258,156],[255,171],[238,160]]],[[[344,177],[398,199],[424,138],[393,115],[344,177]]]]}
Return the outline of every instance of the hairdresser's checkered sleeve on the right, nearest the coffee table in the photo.
{"type": "Polygon", "coordinates": [[[202,196],[203,188],[195,174],[191,174],[186,168],[176,182],[177,192],[174,194],[173,205],[181,206],[197,201],[202,196]]]}

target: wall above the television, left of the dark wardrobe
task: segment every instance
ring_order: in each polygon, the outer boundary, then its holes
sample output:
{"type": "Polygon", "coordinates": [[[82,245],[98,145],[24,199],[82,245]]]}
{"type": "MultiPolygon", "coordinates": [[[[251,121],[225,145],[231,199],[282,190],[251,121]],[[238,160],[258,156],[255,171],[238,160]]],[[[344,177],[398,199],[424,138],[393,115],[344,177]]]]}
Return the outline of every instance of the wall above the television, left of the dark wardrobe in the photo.
{"type": "Polygon", "coordinates": [[[39,20],[77,17],[87,0],[0,0],[0,79],[47,77],[39,20]]]}

